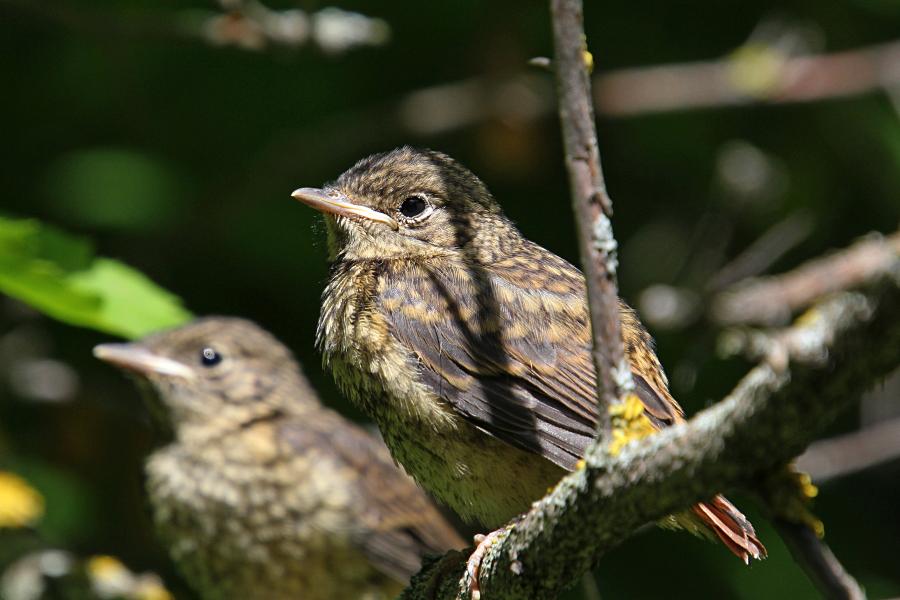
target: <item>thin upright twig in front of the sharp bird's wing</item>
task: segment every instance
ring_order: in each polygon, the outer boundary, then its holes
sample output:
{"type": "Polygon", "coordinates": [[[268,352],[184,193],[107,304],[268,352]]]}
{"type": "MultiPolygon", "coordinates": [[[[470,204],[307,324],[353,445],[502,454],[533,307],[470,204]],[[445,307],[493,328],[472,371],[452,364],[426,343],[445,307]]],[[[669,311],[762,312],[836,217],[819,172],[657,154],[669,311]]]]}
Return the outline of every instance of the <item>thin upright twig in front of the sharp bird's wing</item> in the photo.
{"type": "Polygon", "coordinates": [[[601,436],[609,433],[608,408],[631,387],[619,321],[616,284],[617,244],[612,233],[612,200],[606,192],[590,77],[581,0],[551,0],[554,71],[559,96],[559,119],[581,265],[587,281],[588,306],[597,370],[597,401],[601,436]]]}

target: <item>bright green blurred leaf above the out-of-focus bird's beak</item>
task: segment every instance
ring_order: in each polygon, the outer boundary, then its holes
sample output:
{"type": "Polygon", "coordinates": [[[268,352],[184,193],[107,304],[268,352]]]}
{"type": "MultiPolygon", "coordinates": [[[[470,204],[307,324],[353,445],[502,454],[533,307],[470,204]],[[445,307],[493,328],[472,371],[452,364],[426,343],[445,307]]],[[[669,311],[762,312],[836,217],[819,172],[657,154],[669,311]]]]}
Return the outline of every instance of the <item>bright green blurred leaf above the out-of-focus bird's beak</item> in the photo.
{"type": "Polygon", "coordinates": [[[191,318],[174,295],[85,240],[0,217],[0,292],[82,327],[136,338],[191,318]]]}

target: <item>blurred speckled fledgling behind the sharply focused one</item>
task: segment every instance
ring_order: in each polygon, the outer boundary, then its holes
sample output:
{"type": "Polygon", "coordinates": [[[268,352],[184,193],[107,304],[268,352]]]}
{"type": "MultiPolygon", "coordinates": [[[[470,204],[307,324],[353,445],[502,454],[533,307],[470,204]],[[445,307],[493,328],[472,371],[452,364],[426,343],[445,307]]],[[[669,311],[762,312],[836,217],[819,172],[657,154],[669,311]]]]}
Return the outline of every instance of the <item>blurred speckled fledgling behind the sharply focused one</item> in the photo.
{"type": "Polygon", "coordinates": [[[393,598],[424,554],[465,545],[253,323],[206,318],[94,354],[152,388],[153,518],[202,597],[393,598]]]}

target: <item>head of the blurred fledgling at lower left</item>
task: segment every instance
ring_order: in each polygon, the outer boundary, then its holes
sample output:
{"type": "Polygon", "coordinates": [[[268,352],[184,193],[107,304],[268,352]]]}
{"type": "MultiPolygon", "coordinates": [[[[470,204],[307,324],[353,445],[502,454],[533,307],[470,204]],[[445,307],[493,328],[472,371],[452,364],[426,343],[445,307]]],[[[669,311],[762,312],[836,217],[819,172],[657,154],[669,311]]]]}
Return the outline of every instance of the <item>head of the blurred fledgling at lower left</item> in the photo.
{"type": "Polygon", "coordinates": [[[148,407],[166,437],[316,402],[288,349],[242,319],[199,319],[137,342],[100,344],[94,356],[149,384],[148,407]]]}

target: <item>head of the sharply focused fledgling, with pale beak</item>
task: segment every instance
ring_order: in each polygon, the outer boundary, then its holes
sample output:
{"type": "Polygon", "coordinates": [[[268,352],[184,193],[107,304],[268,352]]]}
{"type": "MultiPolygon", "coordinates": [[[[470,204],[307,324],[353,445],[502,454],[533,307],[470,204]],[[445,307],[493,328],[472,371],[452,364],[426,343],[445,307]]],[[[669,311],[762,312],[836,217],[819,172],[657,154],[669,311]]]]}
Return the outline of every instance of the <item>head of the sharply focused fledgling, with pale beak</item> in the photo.
{"type": "Polygon", "coordinates": [[[333,260],[481,255],[519,236],[478,177],[432,150],[375,154],[292,196],[325,214],[333,260]]]}

